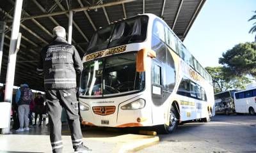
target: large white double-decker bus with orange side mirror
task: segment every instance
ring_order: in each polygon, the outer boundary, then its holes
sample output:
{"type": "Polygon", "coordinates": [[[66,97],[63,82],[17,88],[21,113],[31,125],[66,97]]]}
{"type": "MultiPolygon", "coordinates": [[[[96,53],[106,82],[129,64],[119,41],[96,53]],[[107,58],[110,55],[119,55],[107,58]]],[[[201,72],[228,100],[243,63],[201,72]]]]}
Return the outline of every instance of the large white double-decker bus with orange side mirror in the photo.
{"type": "Polygon", "coordinates": [[[214,115],[212,79],[168,25],[143,14],[99,29],[83,57],[82,124],[156,126],[214,115]]]}

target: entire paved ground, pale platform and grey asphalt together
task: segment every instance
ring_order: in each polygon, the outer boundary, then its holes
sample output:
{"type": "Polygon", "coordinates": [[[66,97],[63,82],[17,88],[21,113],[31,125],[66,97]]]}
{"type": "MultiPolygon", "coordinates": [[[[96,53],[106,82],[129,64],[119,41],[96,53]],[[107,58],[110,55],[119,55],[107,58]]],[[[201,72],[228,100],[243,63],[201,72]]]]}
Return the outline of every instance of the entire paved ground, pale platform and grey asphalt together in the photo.
{"type": "MultiPolygon", "coordinates": [[[[72,143],[67,126],[63,126],[63,153],[72,152],[72,143]]],[[[147,140],[153,138],[156,144],[138,153],[175,153],[175,152],[211,152],[211,153],[256,153],[256,115],[217,115],[212,122],[190,122],[180,125],[171,135],[147,137],[137,135],[138,128],[85,128],[83,141],[93,149],[93,153],[124,152],[129,148],[150,144],[147,140]]],[[[152,139],[151,139],[152,140],[152,139]]],[[[139,147],[140,148],[140,147],[139,147]]],[[[51,152],[47,126],[33,128],[32,131],[0,135],[0,152],[51,152]]],[[[132,151],[134,152],[134,151],[132,151]]]]}

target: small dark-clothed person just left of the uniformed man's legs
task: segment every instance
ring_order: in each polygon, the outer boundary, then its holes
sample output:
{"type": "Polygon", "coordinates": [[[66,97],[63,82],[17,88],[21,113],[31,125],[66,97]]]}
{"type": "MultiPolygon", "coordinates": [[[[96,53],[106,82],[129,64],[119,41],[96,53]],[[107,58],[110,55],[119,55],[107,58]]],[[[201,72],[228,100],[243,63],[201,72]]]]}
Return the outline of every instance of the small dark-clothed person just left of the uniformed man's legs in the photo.
{"type": "Polygon", "coordinates": [[[35,124],[33,126],[36,126],[36,120],[37,116],[39,114],[39,124],[38,126],[42,126],[42,119],[43,119],[43,113],[44,113],[44,98],[42,97],[42,94],[38,92],[36,95],[35,101],[35,124]]]}

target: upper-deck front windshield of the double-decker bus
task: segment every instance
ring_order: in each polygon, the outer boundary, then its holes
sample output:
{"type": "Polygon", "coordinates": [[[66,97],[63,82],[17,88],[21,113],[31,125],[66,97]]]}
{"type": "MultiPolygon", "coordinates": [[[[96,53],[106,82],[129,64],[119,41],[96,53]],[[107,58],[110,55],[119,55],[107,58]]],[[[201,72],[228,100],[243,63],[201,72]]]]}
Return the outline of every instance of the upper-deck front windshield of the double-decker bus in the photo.
{"type": "Polygon", "coordinates": [[[108,25],[93,34],[86,54],[128,43],[139,43],[147,37],[148,17],[141,15],[108,25]]]}

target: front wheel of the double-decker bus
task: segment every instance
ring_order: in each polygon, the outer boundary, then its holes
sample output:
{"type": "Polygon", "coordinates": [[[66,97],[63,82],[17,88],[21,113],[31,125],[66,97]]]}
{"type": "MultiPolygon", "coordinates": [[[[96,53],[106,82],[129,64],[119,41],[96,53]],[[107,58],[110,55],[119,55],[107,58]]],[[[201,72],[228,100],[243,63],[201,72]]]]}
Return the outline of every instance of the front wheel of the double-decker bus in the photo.
{"type": "Polygon", "coordinates": [[[166,124],[161,126],[161,128],[159,129],[159,133],[169,134],[169,133],[173,133],[173,131],[175,131],[175,129],[177,129],[178,124],[179,124],[179,119],[178,119],[178,112],[174,108],[174,106],[171,106],[171,108],[170,108],[170,121],[169,122],[170,122],[169,126],[166,124]]]}

